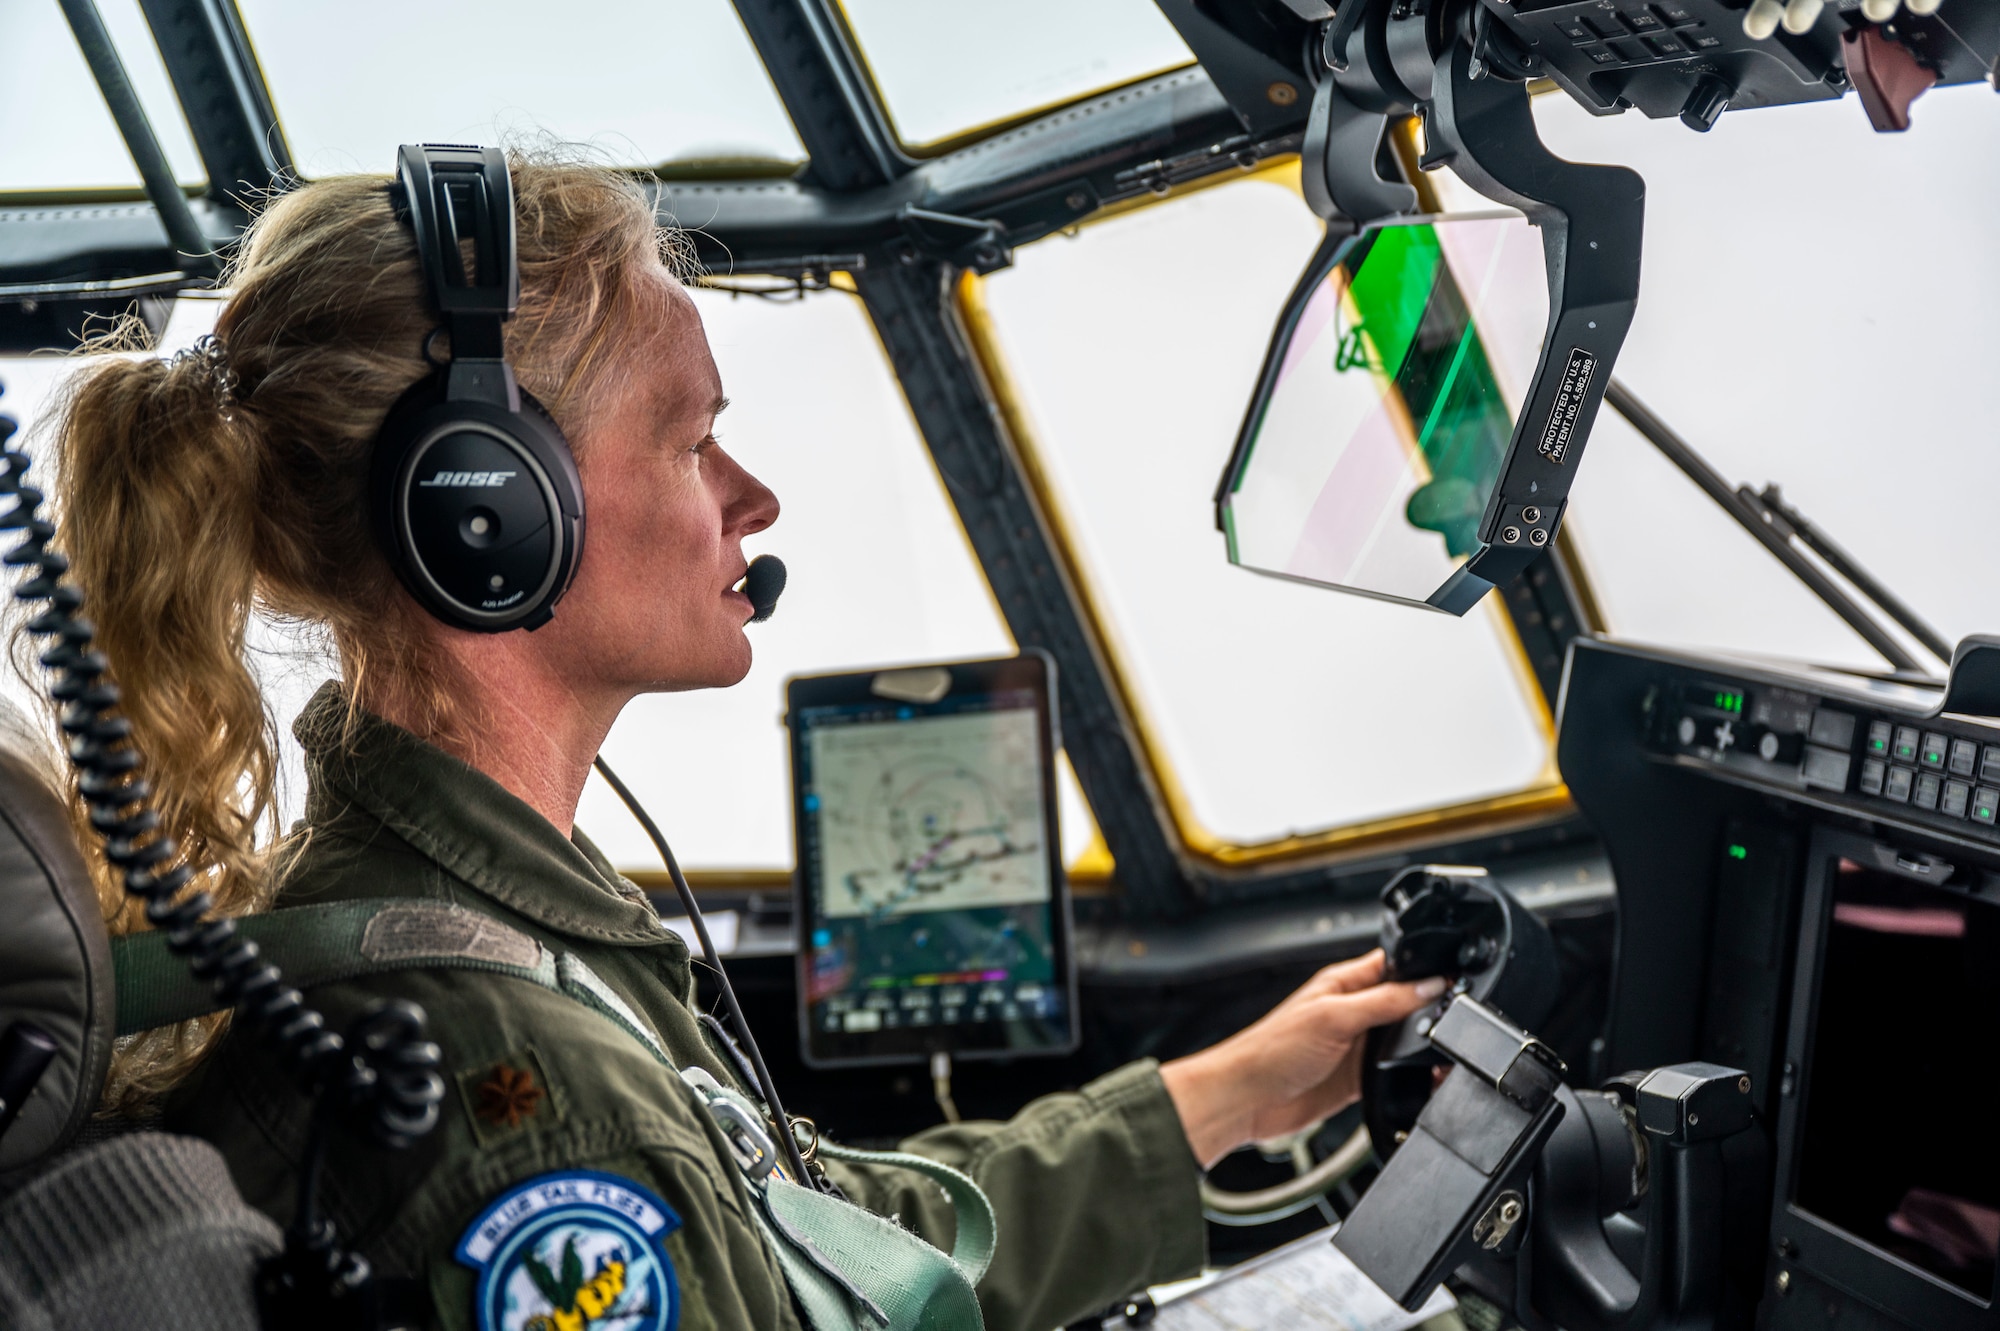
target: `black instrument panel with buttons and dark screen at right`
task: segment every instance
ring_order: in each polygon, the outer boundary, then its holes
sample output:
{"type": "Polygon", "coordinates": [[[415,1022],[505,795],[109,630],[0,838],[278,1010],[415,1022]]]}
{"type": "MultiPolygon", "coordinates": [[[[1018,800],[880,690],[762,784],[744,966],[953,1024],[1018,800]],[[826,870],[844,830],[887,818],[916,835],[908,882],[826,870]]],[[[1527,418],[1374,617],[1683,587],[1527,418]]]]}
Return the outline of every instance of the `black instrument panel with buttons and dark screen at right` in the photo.
{"type": "Polygon", "coordinates": [[[1768,1149],[1718,1327],[2000,1327],[2000,1153],[1960,1111],[2000,1093],[2000,725],[1946,711],[1984,669],[1570,654],[1558,763],[1618,883],[1588,1075],[1744,1069],[1768,1149]]]}

